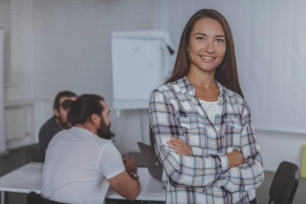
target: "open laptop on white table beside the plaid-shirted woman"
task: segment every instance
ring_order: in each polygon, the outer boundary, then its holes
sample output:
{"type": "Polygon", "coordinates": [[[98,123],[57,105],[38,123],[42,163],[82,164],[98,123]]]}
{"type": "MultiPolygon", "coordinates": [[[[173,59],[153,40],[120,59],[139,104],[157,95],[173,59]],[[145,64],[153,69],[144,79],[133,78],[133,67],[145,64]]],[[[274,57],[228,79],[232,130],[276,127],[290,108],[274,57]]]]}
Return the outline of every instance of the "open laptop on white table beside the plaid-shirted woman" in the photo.
{"type": "Polygon", "coordinates": [[[149,174],[155,179],[162,181],[163,167],[156,155],[154,146],[149,146],[141,142],[137,142],[143,161],[149,170],[149,174]]]}

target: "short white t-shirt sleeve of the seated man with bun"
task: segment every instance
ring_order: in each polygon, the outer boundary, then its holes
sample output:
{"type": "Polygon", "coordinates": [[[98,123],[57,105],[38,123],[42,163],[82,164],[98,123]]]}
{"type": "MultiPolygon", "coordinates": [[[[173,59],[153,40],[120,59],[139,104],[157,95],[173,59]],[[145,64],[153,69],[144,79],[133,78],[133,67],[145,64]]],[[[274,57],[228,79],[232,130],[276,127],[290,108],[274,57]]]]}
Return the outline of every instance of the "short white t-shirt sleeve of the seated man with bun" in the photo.
{"type": "Polygon", "coordinates": [[[107,142],[100,151],[98,168],[107,179],[112,179],[125,170],[122,157],[112,142],[107,142]]]}

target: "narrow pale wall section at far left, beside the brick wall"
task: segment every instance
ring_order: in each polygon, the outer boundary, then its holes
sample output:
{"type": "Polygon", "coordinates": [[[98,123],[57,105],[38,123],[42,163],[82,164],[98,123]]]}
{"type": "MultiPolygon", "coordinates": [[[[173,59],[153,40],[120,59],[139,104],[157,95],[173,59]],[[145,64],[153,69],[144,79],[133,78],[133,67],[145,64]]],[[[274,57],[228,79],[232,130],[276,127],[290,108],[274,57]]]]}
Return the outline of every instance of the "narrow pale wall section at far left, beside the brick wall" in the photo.
{"type": "MultiPolygon", "coordinates": [[[[1,1],[5,26],[5,101],[32,99],[33,27],[32,0],[1,1]]],[[[0,21],[1,21],[0,20],[0,21]]]]}

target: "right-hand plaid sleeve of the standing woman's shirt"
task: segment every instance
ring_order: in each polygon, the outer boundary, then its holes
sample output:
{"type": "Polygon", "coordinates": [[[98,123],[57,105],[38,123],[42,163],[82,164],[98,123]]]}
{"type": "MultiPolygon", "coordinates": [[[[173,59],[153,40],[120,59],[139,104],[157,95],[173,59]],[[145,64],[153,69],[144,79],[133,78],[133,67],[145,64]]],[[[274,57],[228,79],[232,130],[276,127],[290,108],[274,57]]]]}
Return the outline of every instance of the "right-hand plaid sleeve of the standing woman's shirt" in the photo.
{"type": "Polygon", "coordinates": [[[251,120],[250,109],[246,102],[242,106],[242,133],[241,151],[245,161],[229,169],[220,176],[214,185],[224,189],[228,193],[256,189],[264,181],[264,168],[260,146],[256,141],[251,120]]]}

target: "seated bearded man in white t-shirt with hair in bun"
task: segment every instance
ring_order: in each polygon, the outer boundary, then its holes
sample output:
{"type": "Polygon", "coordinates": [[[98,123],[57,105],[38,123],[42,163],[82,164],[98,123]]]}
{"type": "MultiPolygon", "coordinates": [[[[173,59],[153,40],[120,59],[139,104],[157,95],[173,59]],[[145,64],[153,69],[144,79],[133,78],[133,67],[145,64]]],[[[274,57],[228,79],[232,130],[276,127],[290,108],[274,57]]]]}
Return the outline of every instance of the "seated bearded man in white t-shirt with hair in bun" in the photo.
{"type": "Polygon", "coordinates": [[[49,143],[41,196],[65,203],[104,203],[109,186],[133,200],[140,191],[135,158],[121,155],[111,142],[110,110],[104,99],[84,94],[66,100],[72,127],[49,143]],[[104,138],[108,136],[108,138],[104,138]]]}

